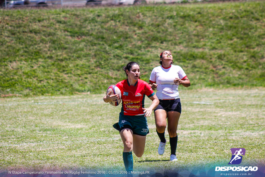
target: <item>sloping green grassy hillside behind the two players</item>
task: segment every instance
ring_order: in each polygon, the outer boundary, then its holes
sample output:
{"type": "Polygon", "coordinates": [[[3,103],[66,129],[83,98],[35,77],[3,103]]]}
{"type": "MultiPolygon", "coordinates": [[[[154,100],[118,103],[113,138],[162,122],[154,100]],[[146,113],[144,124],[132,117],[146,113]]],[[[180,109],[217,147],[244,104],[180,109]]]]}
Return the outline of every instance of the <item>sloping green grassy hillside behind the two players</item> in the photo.
{"type": "Polygon", "coordinates": [[[170,50],[201,87],[265,87],[265,1],[0,9],[0,94],[102,92],[170,50]]]}

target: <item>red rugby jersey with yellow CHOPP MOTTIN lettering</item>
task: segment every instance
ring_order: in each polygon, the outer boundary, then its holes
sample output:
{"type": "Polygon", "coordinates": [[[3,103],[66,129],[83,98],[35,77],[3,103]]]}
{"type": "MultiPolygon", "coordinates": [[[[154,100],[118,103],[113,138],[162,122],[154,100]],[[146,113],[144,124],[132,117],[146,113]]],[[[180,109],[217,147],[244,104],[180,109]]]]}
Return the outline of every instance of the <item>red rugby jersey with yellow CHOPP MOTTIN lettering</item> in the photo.
{"type": "Polygon", "coordinates": [[[154,95],[150,85],[138,79],[135,85],[130,85],[128,79],[120,81],[116,86],[121,90],[122,107],[121,113],[124,115],[144,115],[144,97],[149,98],[154,95]]]}

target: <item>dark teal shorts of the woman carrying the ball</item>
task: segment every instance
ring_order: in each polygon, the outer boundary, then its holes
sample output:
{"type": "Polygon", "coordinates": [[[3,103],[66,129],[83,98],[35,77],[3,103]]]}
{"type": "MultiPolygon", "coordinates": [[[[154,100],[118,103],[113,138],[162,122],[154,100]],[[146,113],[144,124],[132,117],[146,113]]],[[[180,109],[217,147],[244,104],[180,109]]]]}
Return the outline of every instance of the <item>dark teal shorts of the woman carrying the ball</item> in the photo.
{"type": "Polygon", "coordinates": [[[114,128],[120,132],[129,128],[133,131],[134,135],[146,136],[149,133],[147,119],[144,115],[123,115],[120,113],[119,122],[113,125],[114,128]]]}

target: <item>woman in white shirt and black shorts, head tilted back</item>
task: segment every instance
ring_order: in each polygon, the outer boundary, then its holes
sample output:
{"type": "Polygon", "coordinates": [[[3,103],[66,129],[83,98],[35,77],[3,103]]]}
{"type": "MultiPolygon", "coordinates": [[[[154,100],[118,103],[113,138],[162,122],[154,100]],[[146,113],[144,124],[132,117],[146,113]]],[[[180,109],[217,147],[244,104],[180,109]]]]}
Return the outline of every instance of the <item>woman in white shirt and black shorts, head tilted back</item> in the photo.
{"type": "Polygon", "coordinates": [[[169,143],[171,149],[170,161],[176,158],[176,147],[178,142],[178,121],[181,114],[181,104],[178,86],[189,87],[191,85],[187,75],[180,66],[173,65],[173,57],[170,51],[165,50],[160,54],[161,66],[155,67],[151,72],[149,85],[153,90],[157,89],[156,96],[160,103],[154,110],[156,121],[156,132],[160,138],[158,154],[165,151],[166,139],[165,129],[169,132],[169,143]],[[166,123],[167,119],[167,123],[166,123]]]}

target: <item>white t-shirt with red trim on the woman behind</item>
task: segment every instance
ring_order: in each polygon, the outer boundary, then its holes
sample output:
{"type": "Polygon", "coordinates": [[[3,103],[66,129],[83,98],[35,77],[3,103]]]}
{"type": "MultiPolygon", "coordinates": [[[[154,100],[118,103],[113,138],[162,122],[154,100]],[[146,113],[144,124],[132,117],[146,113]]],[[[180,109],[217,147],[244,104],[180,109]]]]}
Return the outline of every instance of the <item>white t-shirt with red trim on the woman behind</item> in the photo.
{"type": "Polygon", "coordinates": [[[150,75],[150,81],[157,84],[156,96],[160,100],[179,98],[178,85],[174,84],[175,78],[184,79],[187,75],[180,66],[171,65],[164,68],[162,65],[155,67],[150,75]]]}

